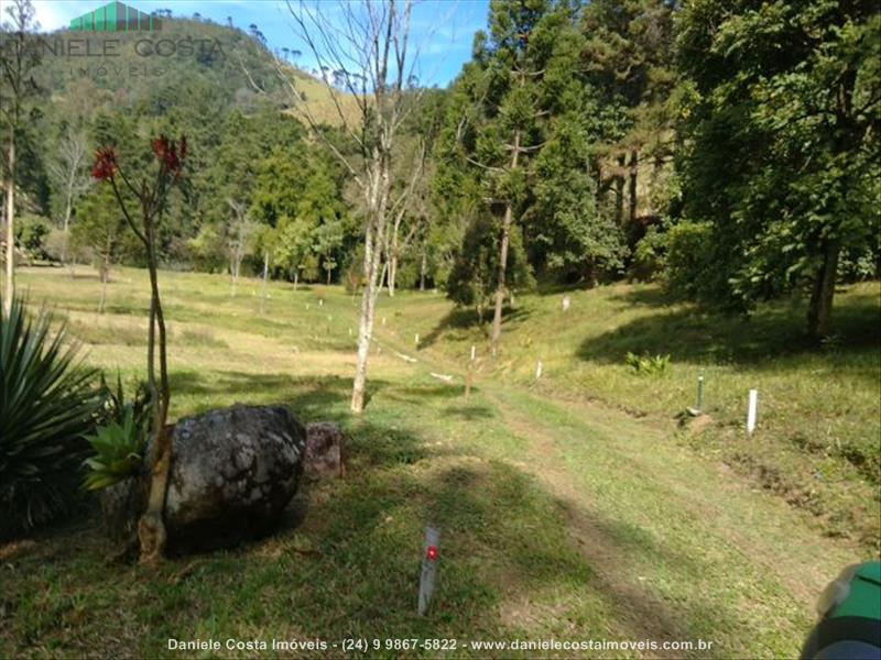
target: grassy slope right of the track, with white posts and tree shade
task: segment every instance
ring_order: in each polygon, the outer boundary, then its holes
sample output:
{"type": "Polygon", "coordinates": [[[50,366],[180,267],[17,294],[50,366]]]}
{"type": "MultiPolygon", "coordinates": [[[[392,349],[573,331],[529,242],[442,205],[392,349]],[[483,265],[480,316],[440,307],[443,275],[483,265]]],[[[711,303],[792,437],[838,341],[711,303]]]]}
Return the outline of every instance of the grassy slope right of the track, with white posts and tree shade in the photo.
{"type": "MultiPolygon", "coordinates": [[[[668,304],[652,286],[527,296],[516,301],[496,365],[480,373],[546,396],[597,402],[648,417],[677,439],[720,458],[757,484],[817,518],[829,536],[879,550],[881,484],[881,301],[879,284],[844,288],[838,334],[822,350],[803,340],[797,302],[768,305],[749,320],[668,304]],[[572,307],[562,311],[568,295],[572,307]],[[660,376],[639,376],[628,352],[671,355],[660,376]],[[536,363],[543,376],[535,383],[536,363]],[[706,380],[708,418],[676,428],[706,380]],[[759,389],[759,426],[749,437],[747,394],[759,389]]],[[[396,323],[460,364],[470,346],[486,355],[483,331],[439,296],[394,302],[396,323]],[[437,319],[443,320],[438,323],[437,319]]]]}

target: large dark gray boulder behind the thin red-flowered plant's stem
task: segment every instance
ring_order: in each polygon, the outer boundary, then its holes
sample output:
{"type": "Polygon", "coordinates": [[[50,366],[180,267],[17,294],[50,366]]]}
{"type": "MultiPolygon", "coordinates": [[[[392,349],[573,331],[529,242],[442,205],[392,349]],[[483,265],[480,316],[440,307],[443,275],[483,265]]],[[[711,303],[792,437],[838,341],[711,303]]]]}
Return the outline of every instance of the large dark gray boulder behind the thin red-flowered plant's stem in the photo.
{"type": "MultiPolygon", "coordinates": [[[[236,405],[181,419],[172,432],[167,549],[208,550],[271,531],[296,493],[305,443],[305,429],[284,406],[236,405]]],[[[137,529],[149,479],[144,472],[102,496],[118,540],[137,529]]]]}

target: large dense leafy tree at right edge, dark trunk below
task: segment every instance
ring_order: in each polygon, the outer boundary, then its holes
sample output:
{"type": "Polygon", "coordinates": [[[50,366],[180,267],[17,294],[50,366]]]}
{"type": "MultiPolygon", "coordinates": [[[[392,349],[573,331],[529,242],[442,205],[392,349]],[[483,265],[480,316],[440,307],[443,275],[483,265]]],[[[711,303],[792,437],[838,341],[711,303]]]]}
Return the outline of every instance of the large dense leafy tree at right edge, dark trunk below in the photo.
{"type": "Polygon", "coordinates": [[[877,245],[881,13],[869,1],[700,0],[678,19],[686,216],[711,223],[703,297],[806,287],[831,331],[841,255],[877,245]]]}

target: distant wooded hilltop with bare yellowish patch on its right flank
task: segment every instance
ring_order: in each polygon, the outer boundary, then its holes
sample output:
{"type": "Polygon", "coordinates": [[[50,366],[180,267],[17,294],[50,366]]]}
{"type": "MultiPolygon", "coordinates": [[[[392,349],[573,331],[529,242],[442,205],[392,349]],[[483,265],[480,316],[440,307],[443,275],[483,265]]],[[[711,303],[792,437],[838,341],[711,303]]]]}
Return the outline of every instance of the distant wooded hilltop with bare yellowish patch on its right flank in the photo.
{"type": "MultiPolygon", "coordinates": [[[[260,33],[252,32],[176,18],[164,18],[161,29],[152,32],[59,30],[43,35],[37,81],[53,100],[85,96],[81,101],[88,103],[104,97],[117,106],[135,107],[162,103],[170,94],[208,95],[226,110],[248,113],[262,99],[296,113],[279,77],[281,63],[312,114],[331,125],[339,123],[328,85],[273,55],[260,33]]],[[[354,102],[342,95],[342,106],[348,112],[354,102]]]]}

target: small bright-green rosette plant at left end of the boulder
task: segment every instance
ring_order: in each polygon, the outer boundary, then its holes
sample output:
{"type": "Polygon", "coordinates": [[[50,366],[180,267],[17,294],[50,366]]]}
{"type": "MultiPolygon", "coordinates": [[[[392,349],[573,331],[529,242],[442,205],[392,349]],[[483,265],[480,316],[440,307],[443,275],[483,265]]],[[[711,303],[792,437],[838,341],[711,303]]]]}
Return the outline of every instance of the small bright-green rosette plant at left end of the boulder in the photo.
{"type": "Polygon", "coordinates": [[[122,424],[111,421],[99,427],[94,436],[86,436],[95,455],[83,464],[88,468],[84,486],[99,491],[135,474],[143,459],[145,427],[139,426],[134,406],[126,407],[122,424]]]}

